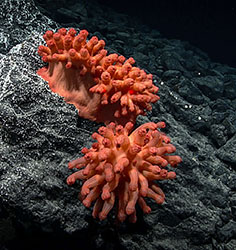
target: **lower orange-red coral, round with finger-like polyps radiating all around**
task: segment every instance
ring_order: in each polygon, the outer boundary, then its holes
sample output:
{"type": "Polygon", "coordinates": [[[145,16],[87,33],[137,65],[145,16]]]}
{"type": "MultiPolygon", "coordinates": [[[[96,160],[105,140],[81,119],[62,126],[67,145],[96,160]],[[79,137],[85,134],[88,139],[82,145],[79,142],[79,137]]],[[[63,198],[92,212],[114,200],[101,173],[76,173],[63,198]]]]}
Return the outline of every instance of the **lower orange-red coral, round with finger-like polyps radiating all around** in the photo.
{"type": "Polygon", "coordinates": [[[136,221],[136,203],[144,213],[151,208],[145,198],[154,199],[158,204],[164,202],[165,195],[155,180],[173,179],[172,167],[181,158],[171,155],[176,148],[170,139],[158,129],[165,127],[164,122],[146,123],[132,133],[133,123],[125,127],[110,123],[100,127],[92,135],[97,140],[90,149],[83,148],[83,157],[69,162],[69,168],[80,169],[67,178],[72,185],[83,180],[80,199],[86,207],[93,207],[93,217],[103,220],[118,200],[117,218],[124,221],[127,216],[136,221]]]}

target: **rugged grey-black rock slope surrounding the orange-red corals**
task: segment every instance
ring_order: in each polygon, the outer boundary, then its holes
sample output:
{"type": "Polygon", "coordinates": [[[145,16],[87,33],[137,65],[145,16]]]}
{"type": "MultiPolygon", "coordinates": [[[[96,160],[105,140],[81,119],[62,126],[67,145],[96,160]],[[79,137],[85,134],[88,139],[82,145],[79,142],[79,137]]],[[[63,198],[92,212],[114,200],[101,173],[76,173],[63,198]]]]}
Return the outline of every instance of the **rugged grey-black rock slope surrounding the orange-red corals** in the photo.
{"type": "MultiPolygon", "coordinates": [[[[76,8],[74,13],[86,11],[77,24],[68,26],[90,27],[94,32],[99,27],[111,49],[134,57],[154,75],[160,101],[136,125],[164,120],[165,132],[183,163],[174,182],[160,183],[167,202],[161,206],[150,202],[148,216],[137,211],[134,227],[115,226],[112,213],[105,222],[91,220],[91,211],[77,199],[79,185],[66,184],[71,174],[66,166],[80,156],[82,147],[91,146],[90,136],[98,125],[79,119],[74,107],[51,93],[36,75],[43,66],[37,56],[41,36],[60,25],[40,14],[32,1],[24,5],[2,1],[0,240],[22,243],[19,229],[37,229],[35,235],[47,232],[48,238],[38,239],[45,246],[57,240],[54,246],[66,242],[100,249],[234,249],[236,103],[232,96],[236,90],[232,82],[236,69],[213,63],[188,43],[165,39],[98,5],[91,8],[81,2],[76,8]],[[220,84],[206,87],[209,79],[220,84]],[[68,232],[75,237],[68,240],[68,232]]],[[[74,16],[71,19],[75,21],[74,16]]],[[[24,244],[30,245],[30,240],[24,244]]]]}

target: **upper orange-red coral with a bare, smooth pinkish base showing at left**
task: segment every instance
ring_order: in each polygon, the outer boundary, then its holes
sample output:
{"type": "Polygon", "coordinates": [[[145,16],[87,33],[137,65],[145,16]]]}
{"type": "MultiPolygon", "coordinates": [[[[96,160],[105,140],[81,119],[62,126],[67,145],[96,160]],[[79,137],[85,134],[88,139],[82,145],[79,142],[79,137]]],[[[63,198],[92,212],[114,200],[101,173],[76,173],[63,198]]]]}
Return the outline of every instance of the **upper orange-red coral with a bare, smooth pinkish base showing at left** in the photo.
{"type": "Polygon", "coordinates": [[[39,46],[38,53],[48,67],[37,73],[53,92],[74,104],[81,117],[105,123],[135,122],[159,99],[152,75],[133,67],[133,58],[107,55],[103,40],[93,36],[87,41],[87,36],[86,30],[78,35],[75,29],[47,31],[43,36],[47,46],[39,46]]]}

